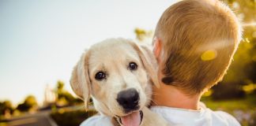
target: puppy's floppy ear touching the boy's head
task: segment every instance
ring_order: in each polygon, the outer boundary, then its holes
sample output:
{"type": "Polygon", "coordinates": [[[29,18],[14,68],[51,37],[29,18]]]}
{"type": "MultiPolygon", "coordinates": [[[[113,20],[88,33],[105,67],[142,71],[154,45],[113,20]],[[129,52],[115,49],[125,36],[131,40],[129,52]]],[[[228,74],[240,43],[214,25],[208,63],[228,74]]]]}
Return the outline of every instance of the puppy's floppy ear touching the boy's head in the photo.
{"type": "Polygon", "coordinates": [[[156,57],[152,54],[152,50],[149,50],[147,46],[139,46],[136,43],[130,42],[134,49],[137,51],[137,54],[141,58],[142,64],[144,65],[146,71],[149,73],[149,77],[152,80],[152,83],[156,87],[160,87],[160,83],[157,77],[158,65],[156,63],[156,57]]]}

